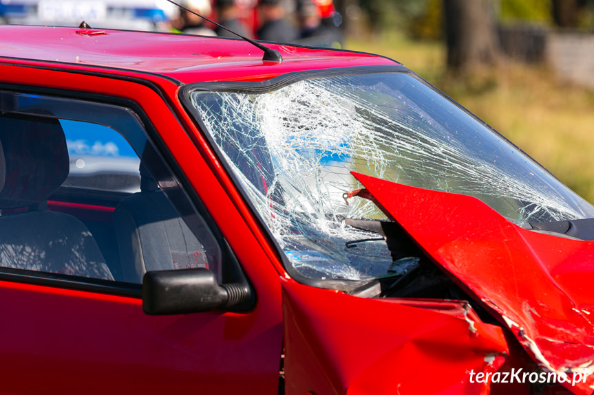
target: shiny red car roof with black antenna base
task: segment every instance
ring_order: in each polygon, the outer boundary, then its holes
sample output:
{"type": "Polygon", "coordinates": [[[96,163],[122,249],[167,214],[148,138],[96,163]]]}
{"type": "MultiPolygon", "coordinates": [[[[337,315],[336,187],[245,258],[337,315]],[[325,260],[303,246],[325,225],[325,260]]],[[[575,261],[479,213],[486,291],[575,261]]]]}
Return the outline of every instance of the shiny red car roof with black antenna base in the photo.
{"type": "MultiPolygon", "coordinates": [[[[265,80],[308,69],[394,65],[372,54],[266,43],[282,63],[264,62],[262,50],[240,39],[187,34],[93,30],[80,27],[0,25],[0,58],[97,67],[106,72],[159,74],[182,83],[265,80]]],[[[63,66],[64,67],[64,66],[63,66]]]]}

